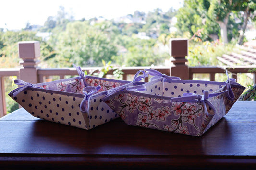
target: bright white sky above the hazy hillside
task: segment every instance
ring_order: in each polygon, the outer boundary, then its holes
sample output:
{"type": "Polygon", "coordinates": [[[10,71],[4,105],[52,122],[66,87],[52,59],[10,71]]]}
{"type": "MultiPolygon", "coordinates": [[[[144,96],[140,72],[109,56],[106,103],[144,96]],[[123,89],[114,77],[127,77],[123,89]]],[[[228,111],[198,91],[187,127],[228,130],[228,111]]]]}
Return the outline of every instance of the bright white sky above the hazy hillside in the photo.
{"type": "Polygon", "coordinates": [[[0,28],[8,30],[30,25],[44,25],[49,16],[56,16],[59,6],[76,20],[103,16],[112,19],[134,11],[148,12],[156,8],[166,12],[183,6],[183,0],[1,0],[0,28]],[[6,25],[5,25],[6,24],[6,25]]]}

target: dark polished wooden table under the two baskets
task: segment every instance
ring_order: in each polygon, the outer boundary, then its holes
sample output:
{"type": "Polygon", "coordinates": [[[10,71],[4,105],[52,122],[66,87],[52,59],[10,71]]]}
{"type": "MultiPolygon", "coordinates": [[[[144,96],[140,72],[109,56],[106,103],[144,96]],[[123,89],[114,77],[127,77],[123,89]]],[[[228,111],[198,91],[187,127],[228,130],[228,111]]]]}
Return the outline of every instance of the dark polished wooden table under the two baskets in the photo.
{"type": "Polygon", "coordinates": [[[0,119],[0,169],[17,167],[255,169],[256,102],[237,101],[201,137],[129,126],[120,118],[83,130],[19,109],[0,119]]]}

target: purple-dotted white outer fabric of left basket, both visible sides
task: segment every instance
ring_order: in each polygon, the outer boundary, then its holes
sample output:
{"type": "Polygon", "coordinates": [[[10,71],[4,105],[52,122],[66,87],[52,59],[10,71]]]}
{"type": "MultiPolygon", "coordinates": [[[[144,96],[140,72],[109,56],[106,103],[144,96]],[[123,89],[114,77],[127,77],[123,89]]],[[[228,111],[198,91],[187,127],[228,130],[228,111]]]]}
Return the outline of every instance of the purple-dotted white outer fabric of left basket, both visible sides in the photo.
{"type": "Polygon", "coordinates": [[[28,103],[25,109],[35,117],[39,116],[38,118],[52,122],[90,129],[118,117],[117,114],[102,101],[103,97],[104,96],[98,96],[86,102],[91,105],[91,107],[89,107],[89,112],[85,113],[82,113],[80,111],[80,105],[76,104],[82,102],[83,96],[73,97],[55,93],[51,95],[43,91],[37,91],[35,93],[34,91],[27,90],[25,95],[24,93],[19,93],[15,99],[17,102],[28,103]],[[56,95],[58,95],[58,97],[56,95]],[[97,110],[100,110],[100,112],[97,110]],[[85,119],[85,115],[89,116],[89,120],[85,119]]]}

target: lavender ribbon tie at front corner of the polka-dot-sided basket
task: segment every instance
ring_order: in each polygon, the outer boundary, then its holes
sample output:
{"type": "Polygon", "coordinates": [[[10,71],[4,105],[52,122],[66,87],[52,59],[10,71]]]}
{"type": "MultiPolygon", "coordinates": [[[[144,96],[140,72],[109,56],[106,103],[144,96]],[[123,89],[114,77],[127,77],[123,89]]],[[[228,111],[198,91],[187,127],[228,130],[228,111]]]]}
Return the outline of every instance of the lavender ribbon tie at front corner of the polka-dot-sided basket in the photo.
{"type": "Polygon", "coordinates": [[[93,87],[93,86],[87,86],[83,89],[83,94],[85,95],[84,99],[82,100],[81,104],[80,104],[80,110],[82,112],[85,112],[85,108],[86,108],[86,100],[89,99],[89,97],[95,93],[97,93],[97,91],[99,91],[102,87],[100,85],[93,87]],[[88,91],[88,92],[87,92],[88,91]]]}

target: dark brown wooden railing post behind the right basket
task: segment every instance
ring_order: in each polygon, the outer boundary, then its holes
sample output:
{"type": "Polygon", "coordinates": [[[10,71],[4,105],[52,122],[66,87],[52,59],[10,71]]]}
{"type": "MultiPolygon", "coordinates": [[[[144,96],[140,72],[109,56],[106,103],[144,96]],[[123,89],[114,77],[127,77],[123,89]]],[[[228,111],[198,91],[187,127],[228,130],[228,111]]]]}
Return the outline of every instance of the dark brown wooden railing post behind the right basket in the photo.
{"type": "Polygon", "coordinates": [[[170,76],[177,76],[181,79],[189,79],[188,66],[186,65],[188,55],[188,40],[180,38],[170,39],[170,56],[173,57],[170,68],[170,76]]]}

